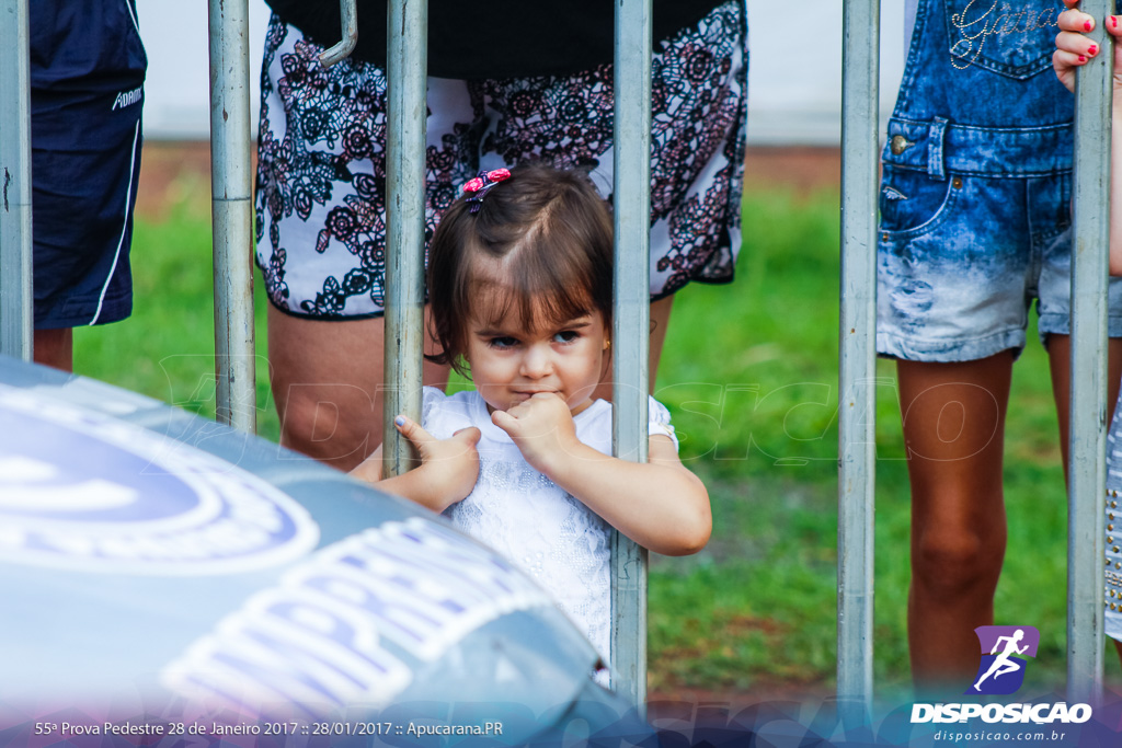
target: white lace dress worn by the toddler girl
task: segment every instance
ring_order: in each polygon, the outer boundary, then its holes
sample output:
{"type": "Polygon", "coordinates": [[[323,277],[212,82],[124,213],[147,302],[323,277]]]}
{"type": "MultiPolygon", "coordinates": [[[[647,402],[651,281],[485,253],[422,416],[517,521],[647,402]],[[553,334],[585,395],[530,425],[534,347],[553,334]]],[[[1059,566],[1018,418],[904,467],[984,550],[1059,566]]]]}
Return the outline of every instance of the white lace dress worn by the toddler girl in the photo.
{"type": "MultiPolygon", "coordinates": [[[[573,421],[582,443],[611,454],[610,403],[596,400],[573,421]]],[[[530,467],[478,393],[447,396],[425,387],[422,424],[436,438],[468,426],[482,432],[476,488],[444,516],[533,576],[610,663],[610,526],[530,467]]],[[[678,446],[670,412],[654,398],[649,432],[678,446]]]]}

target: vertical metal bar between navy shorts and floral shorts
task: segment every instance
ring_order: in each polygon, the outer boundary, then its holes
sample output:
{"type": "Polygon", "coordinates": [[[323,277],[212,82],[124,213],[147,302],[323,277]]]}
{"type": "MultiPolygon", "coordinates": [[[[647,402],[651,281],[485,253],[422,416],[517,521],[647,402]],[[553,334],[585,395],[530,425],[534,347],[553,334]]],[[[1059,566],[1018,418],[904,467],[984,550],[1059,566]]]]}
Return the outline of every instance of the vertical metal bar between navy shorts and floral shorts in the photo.
{"type": "Polygon", "coordinates": [[[255,433],[248,0],[210,2],[210,79],[215,416],[255,433]]]}

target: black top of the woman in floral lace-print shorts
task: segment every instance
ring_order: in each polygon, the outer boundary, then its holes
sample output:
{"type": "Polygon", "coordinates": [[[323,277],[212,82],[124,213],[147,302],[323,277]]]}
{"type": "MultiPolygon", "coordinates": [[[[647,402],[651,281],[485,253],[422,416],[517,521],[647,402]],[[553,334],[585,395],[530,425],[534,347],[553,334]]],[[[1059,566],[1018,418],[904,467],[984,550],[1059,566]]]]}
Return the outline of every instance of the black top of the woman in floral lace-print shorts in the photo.
{"type": "MultiPolygon", "coordinates": [[[[340,38],[337,0],[266,0],[316,44],[340,38]]],[[[726,0],[654,0],[654,40],[692,26],[726,0]]],[[[611,0],[429,0],[429,75],[502,79],[563,75],[610,63],[611,0]]],[[[358,0],[352,56],[386,64],[386,0],[358,0]]]]}

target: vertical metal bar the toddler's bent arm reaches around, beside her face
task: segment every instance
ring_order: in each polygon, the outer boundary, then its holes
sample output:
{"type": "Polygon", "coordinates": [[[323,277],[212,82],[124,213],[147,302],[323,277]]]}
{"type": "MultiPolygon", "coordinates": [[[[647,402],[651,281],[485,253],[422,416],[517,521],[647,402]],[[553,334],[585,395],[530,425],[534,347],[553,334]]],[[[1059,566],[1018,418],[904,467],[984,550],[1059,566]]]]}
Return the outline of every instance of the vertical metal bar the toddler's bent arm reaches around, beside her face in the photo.
{"type": "MultiPolygon", "coordinates": [[[[651,0],[616,1],[613,449],[647,459],[651,327],[651,0]]],[[[646,550],[611,539],[613,687],[646,701],[646,550]]]]}

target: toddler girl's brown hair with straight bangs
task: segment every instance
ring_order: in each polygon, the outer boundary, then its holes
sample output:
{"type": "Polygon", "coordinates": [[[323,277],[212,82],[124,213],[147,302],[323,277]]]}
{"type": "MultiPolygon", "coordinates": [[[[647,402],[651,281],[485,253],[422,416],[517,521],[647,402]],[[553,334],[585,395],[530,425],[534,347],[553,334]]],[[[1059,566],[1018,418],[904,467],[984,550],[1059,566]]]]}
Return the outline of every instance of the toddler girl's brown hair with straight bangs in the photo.
{"type": "Polygon", "coordinates": [[[516,307],[523,325],[594,311],[611,324],[611,219],[588,175],[540,164],[515,167],[479,210],[463,197],[444,214],[429,250],[433,336],[426,357],[467,376],[470,310],[487,295],[490,318],[516,307]],[[487,266],[500,267],[496,283],[487,266]]]}

